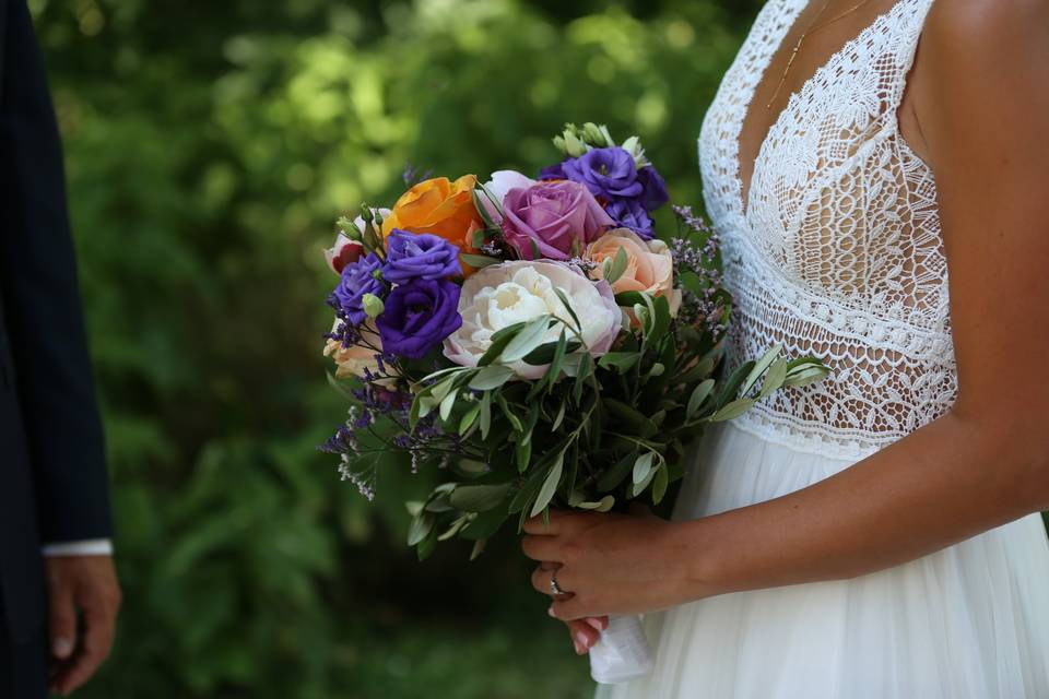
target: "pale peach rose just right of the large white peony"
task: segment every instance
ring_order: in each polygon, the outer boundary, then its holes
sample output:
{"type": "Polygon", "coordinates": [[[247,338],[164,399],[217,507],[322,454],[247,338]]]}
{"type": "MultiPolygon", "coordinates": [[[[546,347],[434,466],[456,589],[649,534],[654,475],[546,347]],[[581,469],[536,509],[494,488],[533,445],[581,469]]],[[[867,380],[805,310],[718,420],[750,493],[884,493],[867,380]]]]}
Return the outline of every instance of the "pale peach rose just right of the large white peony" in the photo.
{"type": "Polygon", "coordinates": [[[648,292],[653,296],[665,296],[670,315],[676,316],[681,307],[681,289],[674,288],[674,260],[662,240],[641,240],[628,228],[610,230],[587,247],[586,259],[597,264],[592,274],[603,277],[604,261],[615,260],[621,248],[626,250],[626,271],[612,285],[612,291],[616,294],[648,292]]]}

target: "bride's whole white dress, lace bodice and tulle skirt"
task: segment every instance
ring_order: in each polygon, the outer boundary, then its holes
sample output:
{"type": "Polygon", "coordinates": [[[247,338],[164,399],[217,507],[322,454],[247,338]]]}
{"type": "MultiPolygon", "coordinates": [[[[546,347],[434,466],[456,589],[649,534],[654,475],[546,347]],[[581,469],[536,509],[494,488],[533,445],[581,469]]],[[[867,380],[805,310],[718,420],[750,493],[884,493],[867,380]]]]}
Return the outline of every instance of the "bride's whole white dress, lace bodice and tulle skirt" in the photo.
{"type": "MultiPolygon", "coordinates": [[[[782,343],[833,377],[708,435],[676,517],[821,481],[943,414],[956,393],[936,188],[897,108],[932,0],[898,0],[793,95],[746,205],[739,139],[808,0],[770,0],[699,140],[726,245],[738,357],[782,343]]],[[[1049,698],[1049,544],[1038,516],[852,580],[650,615],[657,667],[614,699],[1049,698]]]]}

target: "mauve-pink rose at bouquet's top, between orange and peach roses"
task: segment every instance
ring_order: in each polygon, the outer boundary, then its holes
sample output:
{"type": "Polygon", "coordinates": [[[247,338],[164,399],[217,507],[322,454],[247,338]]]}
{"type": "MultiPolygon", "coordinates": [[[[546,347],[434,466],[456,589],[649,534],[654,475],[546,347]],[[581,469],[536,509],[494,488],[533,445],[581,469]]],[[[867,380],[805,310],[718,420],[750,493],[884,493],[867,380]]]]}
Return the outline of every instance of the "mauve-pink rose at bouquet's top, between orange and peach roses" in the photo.
{"type": "Polygon", "coordinates": [[[503,200],[503,235],[524,260],[569,260],[615,222],[578,182],[539,182],[503,200]]]}

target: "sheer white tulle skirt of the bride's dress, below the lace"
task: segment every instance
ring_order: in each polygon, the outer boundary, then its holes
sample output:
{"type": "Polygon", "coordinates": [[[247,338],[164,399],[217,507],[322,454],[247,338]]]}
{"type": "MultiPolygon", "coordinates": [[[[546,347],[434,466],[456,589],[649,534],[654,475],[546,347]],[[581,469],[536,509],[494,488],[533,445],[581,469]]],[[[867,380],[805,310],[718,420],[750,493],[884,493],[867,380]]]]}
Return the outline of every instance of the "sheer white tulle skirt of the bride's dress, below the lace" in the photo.
{"type": "MultiPolygon", "coordinates": [[[[707,435],[675,519],[803,488],[849,461],[733,425],[707,435]]],[[[852,580],[724,594],[646,619],[656,671],[599,699],[1049,698],[1049,543],[1026,517],[852,580]]]]}

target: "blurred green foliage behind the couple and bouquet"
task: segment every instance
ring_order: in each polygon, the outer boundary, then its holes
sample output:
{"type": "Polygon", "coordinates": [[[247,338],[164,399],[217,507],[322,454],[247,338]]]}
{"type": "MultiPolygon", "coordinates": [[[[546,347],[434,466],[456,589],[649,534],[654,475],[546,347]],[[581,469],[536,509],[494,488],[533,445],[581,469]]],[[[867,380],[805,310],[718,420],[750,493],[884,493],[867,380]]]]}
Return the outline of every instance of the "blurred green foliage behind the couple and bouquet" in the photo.
{"type": "Polygon", "coordinates": [[[587,697],[504,540],[419,564],[321,442],[333,222],[406,163],[537,169],[564,121],[695,138],[757,0],[31,0],[66,138],[125,587],[80,696],[587,697]]]}

